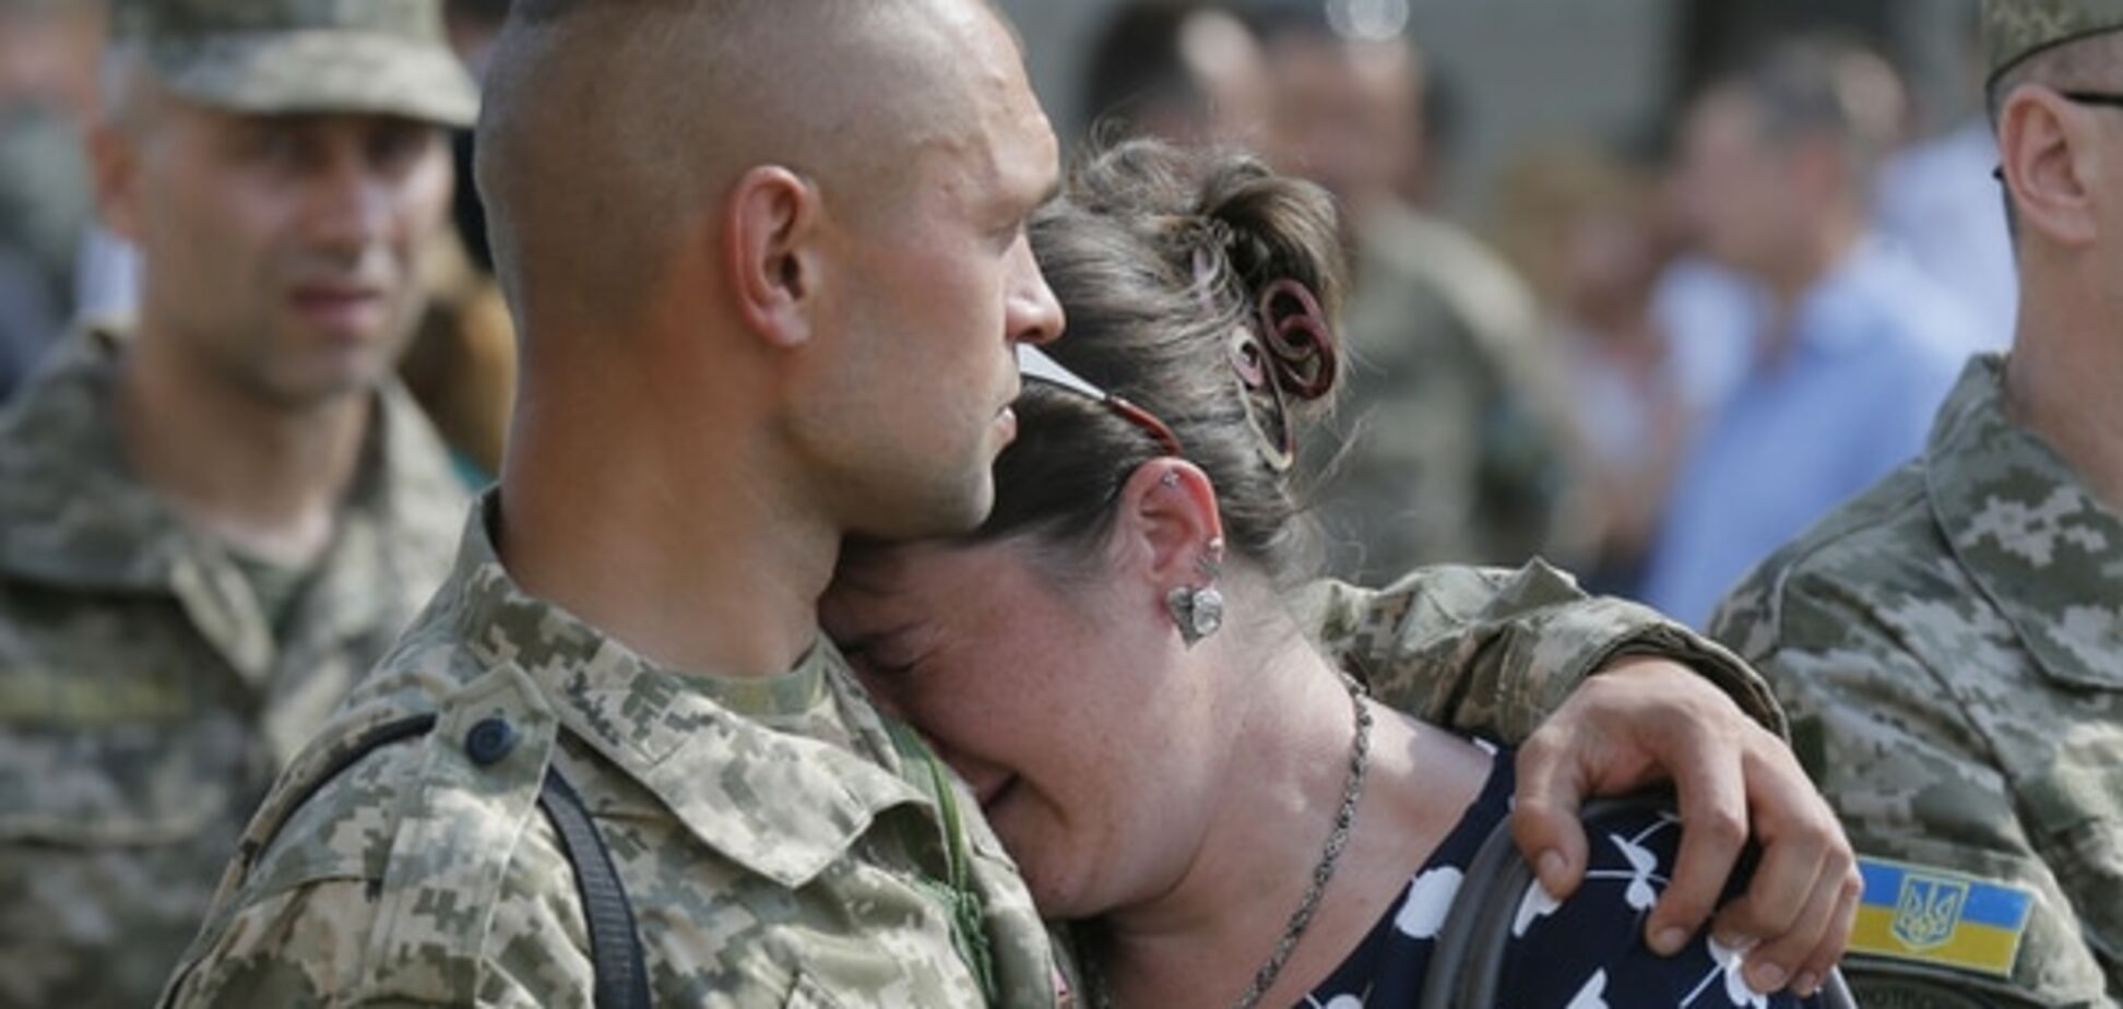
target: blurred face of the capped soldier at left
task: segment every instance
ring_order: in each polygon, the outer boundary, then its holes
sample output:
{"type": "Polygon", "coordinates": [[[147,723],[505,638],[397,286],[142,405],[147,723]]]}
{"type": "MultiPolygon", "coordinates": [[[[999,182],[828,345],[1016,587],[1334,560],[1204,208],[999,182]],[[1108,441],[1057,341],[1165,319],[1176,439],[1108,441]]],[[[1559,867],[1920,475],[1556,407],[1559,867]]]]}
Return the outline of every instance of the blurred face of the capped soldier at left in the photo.
{"type": "Polygon", "coordinates": [[[140,246],[140,329],[282,408],[367,391],[425,308],[452,193],[439,127],[240,115],[174,96],[98,140],[110,225],[140,246]]]}

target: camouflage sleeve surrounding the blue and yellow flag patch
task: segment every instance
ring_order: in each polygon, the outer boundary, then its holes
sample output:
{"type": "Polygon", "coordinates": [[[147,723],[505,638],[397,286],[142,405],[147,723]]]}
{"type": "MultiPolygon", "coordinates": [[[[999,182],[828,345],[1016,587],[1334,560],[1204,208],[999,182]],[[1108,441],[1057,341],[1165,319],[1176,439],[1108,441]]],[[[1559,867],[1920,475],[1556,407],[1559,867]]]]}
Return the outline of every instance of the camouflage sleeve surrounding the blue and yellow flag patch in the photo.
{"type": "Polygon", "coordinates": [[[2004,1005],[2034,1005],[2017,1001],[2032,990],[2076,992],[2070,1005],[2098,1005],[2102,967],[2074,922],[2068,890],[2030,839],[2013,782],[1951,684],[1849,593],[1802,576],[1785,580],[1775,605],[1760,591],[1737,593],[1715,633],[1737,642],[1775,684],[1792,718],[1794,750],[1858,854],[2034,892],[2010,986],[1853,952],[1845,962],[1853,988],[1892,998],[1896,984],[1930,973],[2004,1005]]]}

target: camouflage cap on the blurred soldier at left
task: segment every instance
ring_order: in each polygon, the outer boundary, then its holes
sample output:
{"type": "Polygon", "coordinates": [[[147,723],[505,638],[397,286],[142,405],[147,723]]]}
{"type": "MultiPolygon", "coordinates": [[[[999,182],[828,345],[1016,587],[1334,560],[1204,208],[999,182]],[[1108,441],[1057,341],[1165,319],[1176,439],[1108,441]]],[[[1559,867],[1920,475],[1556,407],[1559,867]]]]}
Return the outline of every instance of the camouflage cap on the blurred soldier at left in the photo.
{"type": "Polygon", "coordinates": [[[115,19],[155,81],[238,113],[382,113],[471,125],[442,0],[132,0],[115,19]]]}

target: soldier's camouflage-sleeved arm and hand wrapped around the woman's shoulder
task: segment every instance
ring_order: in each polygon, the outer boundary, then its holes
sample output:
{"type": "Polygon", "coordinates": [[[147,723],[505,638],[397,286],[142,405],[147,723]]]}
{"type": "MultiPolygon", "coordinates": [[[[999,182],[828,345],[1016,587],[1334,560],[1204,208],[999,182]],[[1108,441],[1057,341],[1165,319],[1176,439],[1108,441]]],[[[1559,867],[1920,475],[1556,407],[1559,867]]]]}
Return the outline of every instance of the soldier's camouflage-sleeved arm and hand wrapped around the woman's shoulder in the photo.
{"type": "Polygon", "coordinates": [[[1726,939],[1760,941],[1749,977],[1811,990],[1841,956],[1849,845],[1783,746],[1766,682],[1728,650],[1641,605],[1590,599],[1541,563],[1318,591],[1327,648],[1386,703],[1522,741],[1514,835],[1552,892],[1582,879],[1590,794],[1671,777],[1690,831],[1645,920],[1652,947],[1677,950],[1709,920],[1751,835],[1760,869],[1715,922],[1726,939]]]}

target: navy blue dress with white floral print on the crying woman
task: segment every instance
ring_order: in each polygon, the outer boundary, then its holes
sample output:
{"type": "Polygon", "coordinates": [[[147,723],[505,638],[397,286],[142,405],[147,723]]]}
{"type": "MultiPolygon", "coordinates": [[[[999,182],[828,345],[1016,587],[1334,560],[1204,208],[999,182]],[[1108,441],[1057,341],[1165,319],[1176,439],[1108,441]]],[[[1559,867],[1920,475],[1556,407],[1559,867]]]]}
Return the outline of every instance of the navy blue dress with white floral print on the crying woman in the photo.
{"type": "MultiPolygon", "coordinates": [[[[1422,996],[1431,947],[1461,877],[1512,809],[1512,758],[1499,754],[1480,799],[1408,892],[1301,1009],[1403,1009],[1422,996]]],[[[1743,954],[1705,935],[1673,958],[1643,945],[1643,920],[1667,888],[1679,820],[1647,811],[1586,824],[1592,869],[1565,903],[1533,886],[1512,922],[1495,1009],[1790,1009],[1815,998],[1762,996],[1741,979],[1743,954]]]]}

